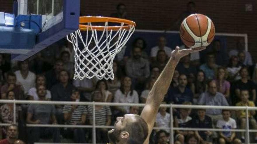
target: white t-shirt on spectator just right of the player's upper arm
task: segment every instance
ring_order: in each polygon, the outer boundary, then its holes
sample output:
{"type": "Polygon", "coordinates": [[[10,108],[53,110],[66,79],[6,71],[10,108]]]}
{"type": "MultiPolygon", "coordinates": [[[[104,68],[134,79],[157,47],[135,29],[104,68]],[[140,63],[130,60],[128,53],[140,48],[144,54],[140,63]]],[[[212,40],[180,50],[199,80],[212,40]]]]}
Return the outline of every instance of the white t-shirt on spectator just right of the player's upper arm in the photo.
{"type": "MultiPolygon", "coordinates": [[[[166,113],[165,116],[162,116],[161,113],[157,113],[155,122],[156,127],[170,127],[171,115],[166,113]]],[[[165,131],[170,132],[168,129],[165,129],[165,131]]]]}

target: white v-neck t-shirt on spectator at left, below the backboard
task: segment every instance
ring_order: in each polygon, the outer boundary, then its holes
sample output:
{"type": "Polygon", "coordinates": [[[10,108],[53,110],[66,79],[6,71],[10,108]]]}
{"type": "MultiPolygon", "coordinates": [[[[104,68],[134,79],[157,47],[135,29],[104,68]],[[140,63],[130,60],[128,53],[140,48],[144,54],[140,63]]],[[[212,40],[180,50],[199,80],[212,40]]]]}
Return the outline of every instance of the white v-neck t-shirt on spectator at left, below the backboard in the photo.
{"type": "Polygon", "coordinates": [[[29,71],[29,74],[26,79],[24,79],[20,73],[20,70],[14,72],[17,78],[17,83],[20,83],[24,88],[24,93],[27,94],[30,88],[35,87],[36,75],[29,71]]]}

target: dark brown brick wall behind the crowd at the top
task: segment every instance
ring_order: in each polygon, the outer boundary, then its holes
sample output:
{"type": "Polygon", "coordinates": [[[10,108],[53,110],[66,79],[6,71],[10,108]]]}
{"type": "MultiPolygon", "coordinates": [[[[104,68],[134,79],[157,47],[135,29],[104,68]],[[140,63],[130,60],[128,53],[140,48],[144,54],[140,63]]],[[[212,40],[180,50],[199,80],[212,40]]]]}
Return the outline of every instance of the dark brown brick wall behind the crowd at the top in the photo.
{"type": "MultiPolygon", "coordinates": [[[[137,23],[137,29],[168,29],[186,9],[189,0],[81,0],[81,15],[109,16],[118,3],[127,6],[128,19],[137,23]]],[[[208,15],[214,22],[216,32],[247,33],[249,51],[257,60],[257,1],[256,0],[194,0],[198,13],[208,15]],[[246,12],[245,4],[251,3],[253,11],[246,12]]],[[[0,0],[0,10],[12,11],[12,0],[0,0]]],[[[229,40],[228,47],[235,46],[229,40]]]]}

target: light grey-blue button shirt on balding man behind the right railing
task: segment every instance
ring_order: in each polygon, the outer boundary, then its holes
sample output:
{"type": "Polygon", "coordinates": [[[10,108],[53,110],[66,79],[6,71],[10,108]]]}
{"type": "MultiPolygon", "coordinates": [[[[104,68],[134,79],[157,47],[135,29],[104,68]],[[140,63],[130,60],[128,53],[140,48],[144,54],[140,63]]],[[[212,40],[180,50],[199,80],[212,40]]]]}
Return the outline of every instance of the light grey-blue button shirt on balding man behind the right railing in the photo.
{"type": "MultiPolygon", "coordinates": [[[[210,106],[228,106],[227,99],[222,93],[217,92],[215,96],[210,95],[209,92],[202,93],[199,101],[199,105],[210,105],[210,106]]],[[[207,109],[206,114],[220,115],[221,109],[207,109]]]]}

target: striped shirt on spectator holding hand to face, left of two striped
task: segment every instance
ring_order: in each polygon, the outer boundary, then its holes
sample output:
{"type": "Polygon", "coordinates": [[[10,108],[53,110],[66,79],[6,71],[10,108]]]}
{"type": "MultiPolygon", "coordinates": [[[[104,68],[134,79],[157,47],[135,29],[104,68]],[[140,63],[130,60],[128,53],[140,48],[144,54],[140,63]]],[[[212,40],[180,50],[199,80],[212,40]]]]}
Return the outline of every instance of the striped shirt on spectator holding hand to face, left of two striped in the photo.
{"type": "MultiPolygon", "coordinates": [[[[62,113],[69,113],[72,111],[72,105],[63,106],[62,113]]],[[[72,112],[69,124],[73,124],[74,122],[81,122],[82,114],[87,114],[86,106],[77,106],[76,109],[72,112]]]]}

